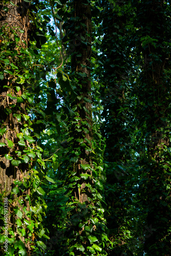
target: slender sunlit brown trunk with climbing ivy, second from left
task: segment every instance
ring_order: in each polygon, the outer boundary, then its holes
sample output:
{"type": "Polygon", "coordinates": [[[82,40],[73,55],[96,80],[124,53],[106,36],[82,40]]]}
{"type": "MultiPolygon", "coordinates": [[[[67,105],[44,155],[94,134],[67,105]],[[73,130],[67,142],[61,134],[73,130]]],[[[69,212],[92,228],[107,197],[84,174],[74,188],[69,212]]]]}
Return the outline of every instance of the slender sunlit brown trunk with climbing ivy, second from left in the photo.
{"type": "MultiPolygon", "coordinates": [[[[91,175],[91,159],[90,151],[92,140],[92,96],[91,96],[91,6],[87,0],[74,1],[74,29],[73,29],[73,42],[75,46],[74,53],[71,59],[71,68],[74,72],[75,79],[77,79],[77,113],[80,131],[74,134],[76,140],[76,147],[80,147],[80,156],[77,165],[78,177],[81,174],[91,175]],[[87,167],[86,167],[87,166],[87,167]],[[86,172],[85,172],[86,170],[86,172]]],[[[79,181],[80,187],[74,189],[75,197],[80,203],[89,201],[89,189],[86,183],[91,183],[91,179],[87,181],[81,177],[79,181]]]]}

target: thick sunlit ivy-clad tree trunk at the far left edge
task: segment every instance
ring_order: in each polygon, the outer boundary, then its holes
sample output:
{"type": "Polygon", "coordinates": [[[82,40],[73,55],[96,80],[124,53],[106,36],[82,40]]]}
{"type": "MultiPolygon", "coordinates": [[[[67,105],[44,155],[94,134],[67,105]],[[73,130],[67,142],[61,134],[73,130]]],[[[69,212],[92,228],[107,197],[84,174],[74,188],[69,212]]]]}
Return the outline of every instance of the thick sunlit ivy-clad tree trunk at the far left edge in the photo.
{"type": "Polygon", "coordinates": [[[23,183],[24,177],[27,176],[29,161],[28,156],[25,156],[23,161],[19,159],[25,154],[23,153],[25,145],[28,145],[28,141],[23,137],[29,117],[26,115],[26,96],[23,96],[24,71],[19,67],[19,62],[23,58],[22,52],[28,43],[29,3],[13,0],[6,4],[2,2],[0,8],[2,50],[0,57],[0,193],[2,200],[9,198],[8,221],[6,221],[8,228],[13,230],[15,239],[23,241],[30,255],[30,244],[18,233],[16,225],[18,216],[20,218],[23,215],[28,220],[23,209],[25,207],[29,210],[29,203],[25,199],[29,193],[28,189],[23,187],[22,191],[17,187],[19,182],[23,183]]]}

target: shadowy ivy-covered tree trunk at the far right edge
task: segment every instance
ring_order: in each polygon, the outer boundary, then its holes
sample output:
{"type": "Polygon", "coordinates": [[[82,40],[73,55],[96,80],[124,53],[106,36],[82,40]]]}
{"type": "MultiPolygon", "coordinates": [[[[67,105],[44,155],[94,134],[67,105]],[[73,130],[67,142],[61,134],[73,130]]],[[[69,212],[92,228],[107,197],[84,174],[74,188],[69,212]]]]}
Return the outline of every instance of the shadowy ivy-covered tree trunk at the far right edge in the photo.
{"type": "MultiPolygon", "coordinates": [[[[147,149],[144,157],[141,197],[146,230],[144,250],[147,255],[170,255],[170,84],[167,75],[170,54],[170,20],[163,1],[137,6],[142,27],[141,44],[144,66],[140,75],[140,117],[145,120],[143,134],[147,149]],[[165,50],[167,48],[167,50],[165,50]],[[147,160],[148,159],[148,160],[147,160]]],[[[139,26],[139,27],[140,27],[139,26]]],[[[142,130],[142,131],[143,131],[142,130]]],[[[140,199],[141,200],[141,199],[140,199]]]]}

